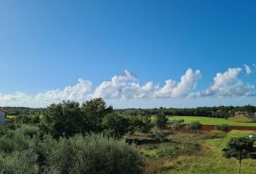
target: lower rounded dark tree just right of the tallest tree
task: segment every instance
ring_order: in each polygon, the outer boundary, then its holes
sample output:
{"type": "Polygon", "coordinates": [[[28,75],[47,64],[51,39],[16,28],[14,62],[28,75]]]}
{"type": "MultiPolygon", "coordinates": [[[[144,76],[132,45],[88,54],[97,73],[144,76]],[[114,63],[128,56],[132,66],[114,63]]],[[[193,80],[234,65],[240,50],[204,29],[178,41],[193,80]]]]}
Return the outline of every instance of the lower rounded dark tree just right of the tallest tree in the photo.
{"type": "Polygon", "coordinates": [[[120,139],[129,131],[129,118],[117,113],[109,113],[103,118],[103,126],[112,137],[120,139]]]}

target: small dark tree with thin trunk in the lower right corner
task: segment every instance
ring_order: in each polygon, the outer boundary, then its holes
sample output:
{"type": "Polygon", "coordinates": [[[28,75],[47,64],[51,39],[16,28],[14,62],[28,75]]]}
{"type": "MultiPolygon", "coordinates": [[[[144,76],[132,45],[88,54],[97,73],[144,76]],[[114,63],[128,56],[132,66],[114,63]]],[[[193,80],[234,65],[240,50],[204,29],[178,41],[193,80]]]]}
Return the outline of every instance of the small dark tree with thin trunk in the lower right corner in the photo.
{"type": "Polygon", "coordinates": [[[241,174],[242,160],[256,159],[256,148],[253,147],[253,141],[248,137],[231,138],[223,152],[225,158],[236,158],[238,160],[238,174],[241,174]]]}

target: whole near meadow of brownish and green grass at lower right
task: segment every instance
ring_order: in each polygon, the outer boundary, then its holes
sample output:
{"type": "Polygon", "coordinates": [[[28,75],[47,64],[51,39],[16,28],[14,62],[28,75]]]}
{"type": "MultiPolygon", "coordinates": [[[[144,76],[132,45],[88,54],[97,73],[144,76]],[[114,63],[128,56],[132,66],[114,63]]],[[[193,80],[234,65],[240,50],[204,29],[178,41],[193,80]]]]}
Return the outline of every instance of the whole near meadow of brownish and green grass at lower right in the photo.
{"type": "MultiPolygon", "coordinates": [[[[231,174],[237,172],[238,162],[226,159],[222,149],[231,137],[248,136],[254,131],[232,130],[229,133],[173,132],[169,143],[139,147],[149,160],[147,173],[161,174],[231,174]]],[[[254,174],[256,163],[244,160],[242,171],[254,174]]]]}

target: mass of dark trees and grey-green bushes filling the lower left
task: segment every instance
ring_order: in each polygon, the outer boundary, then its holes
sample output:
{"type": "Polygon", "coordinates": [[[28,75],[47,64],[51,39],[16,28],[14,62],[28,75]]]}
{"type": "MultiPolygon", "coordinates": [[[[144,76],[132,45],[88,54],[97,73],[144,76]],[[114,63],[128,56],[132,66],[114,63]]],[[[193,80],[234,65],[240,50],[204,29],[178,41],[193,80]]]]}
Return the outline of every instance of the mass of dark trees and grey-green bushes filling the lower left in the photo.
{"type": "Polygon", "coordinates": [[[137,148],[120,140],[133,129],[129,116],[113,113],[101,98],[20,114],[0,129],[0,173],[139,174],[143,159],[137,148]]]}

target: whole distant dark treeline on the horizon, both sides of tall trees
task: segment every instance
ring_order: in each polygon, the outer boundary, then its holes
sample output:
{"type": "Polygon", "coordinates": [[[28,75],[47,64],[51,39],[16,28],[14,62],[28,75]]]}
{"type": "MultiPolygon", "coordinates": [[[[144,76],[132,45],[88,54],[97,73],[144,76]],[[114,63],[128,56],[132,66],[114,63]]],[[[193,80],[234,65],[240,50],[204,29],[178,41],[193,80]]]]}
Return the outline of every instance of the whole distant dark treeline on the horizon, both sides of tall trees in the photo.
{"type": "MultiPolygon", "coordinates": [[[[46,108],[26,108],[26,107],[4,107],[9,115],[21,114],[44,114],[46,108]]],[[[235,113],[244,113],[254,115],[256,107],[251,105],[246,106],[218,106],[218,107],[198,107],[198,108],[154,108],[154,109],[122,109],[114,110],[115,113],[130,114],[130,115],[157,115],[164,113],[165,115],[188,115],[188,116],[209,116],[226,118],[235,113]]]]}

